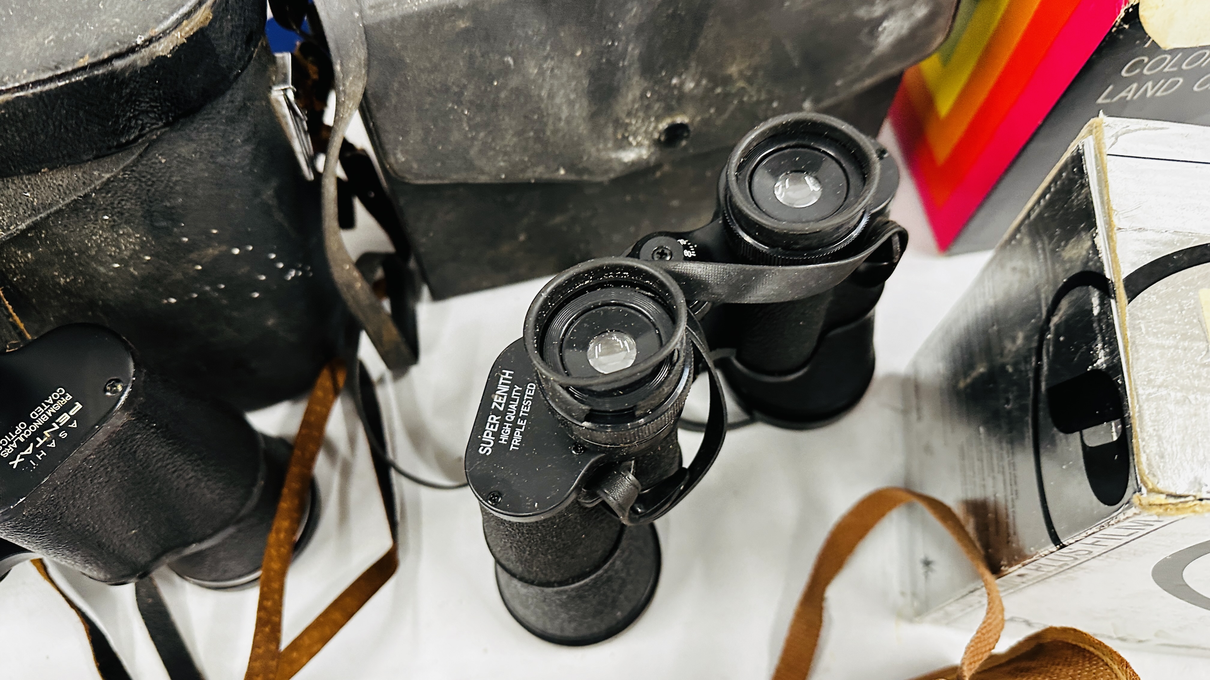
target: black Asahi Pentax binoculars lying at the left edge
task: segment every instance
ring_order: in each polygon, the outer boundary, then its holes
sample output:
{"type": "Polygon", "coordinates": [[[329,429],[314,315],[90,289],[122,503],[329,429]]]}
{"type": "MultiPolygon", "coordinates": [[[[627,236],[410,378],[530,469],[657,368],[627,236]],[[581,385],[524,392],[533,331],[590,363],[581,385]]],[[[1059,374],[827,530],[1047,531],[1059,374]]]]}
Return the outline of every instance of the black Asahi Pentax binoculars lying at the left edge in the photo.
{"type": "MultiPolygon", "coordinates": [[[[0,355],[0,575],[41,555],[104,583],[167,564],[207,588],[260,575],[290,445],[73,324],[0,355]]],[[[318,520],[311,489],[301,549],[318,520]]]]}

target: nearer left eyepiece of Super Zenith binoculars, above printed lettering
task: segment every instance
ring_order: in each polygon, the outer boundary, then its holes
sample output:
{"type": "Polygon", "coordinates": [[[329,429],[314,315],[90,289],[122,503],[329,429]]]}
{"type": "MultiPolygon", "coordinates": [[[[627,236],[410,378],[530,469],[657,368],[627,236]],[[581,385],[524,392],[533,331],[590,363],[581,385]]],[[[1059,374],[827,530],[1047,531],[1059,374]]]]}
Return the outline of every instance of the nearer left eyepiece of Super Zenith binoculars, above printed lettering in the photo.
{"type": "Polygon", "coordinates": [[[551,407],[576,438],[627,446],[680,415],[693,379],[685,295],[628,258],[575,266],[530,305],[525,350],[551,407]]]}

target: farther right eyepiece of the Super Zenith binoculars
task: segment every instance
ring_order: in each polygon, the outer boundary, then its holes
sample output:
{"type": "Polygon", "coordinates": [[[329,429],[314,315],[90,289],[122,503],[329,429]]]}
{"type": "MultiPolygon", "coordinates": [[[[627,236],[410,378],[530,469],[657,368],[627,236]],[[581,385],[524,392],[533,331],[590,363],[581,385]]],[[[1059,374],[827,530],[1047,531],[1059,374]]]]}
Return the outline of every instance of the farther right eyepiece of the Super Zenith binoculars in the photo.
{"type": "Polygon", "coordinates": [[[834,253],[865,227],[880,171],[870,139],[839,119],[770,119],[736,145],[719,177],[727,235],[755,263],[834,253]]]}

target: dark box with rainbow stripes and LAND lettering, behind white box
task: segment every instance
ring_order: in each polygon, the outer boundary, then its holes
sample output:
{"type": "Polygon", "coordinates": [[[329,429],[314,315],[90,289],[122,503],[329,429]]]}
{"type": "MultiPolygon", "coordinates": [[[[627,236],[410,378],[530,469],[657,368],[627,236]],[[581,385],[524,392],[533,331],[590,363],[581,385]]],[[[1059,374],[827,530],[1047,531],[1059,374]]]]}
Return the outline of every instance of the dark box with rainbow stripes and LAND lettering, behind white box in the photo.
{"type": "Polygon", "coordinates": [[[1129,0],[964,0],[889,114],[938,248],[995,247],[1102,113],[1210,125],[1210,47],[1162,50],[1129,0]]]}

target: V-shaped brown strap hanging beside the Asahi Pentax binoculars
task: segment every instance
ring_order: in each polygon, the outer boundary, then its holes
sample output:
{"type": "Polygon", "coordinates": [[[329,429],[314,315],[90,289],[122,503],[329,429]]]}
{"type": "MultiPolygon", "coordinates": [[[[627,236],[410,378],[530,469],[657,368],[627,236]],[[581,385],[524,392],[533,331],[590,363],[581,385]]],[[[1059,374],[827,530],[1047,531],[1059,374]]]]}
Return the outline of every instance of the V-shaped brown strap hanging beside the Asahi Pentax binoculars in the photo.
{"type": "Polygon", "coordinates": [[[294,555],[294,536],[302,518],[302,505],[323,444],[328,416],[345,384],[345,364],[333,361],[316,380],[302,414],[302,425],[294,440],[294,453],[286,472],[286,484],[265,546],[260,572],[260,598],[257,603],[257,628],[244,680],[287,680],[318,653],[328,640],[347,623],[398,566],[396,544],[345,589],[283,651],[282,605],[286,572],[294,555]]]}

